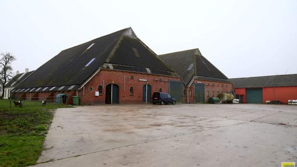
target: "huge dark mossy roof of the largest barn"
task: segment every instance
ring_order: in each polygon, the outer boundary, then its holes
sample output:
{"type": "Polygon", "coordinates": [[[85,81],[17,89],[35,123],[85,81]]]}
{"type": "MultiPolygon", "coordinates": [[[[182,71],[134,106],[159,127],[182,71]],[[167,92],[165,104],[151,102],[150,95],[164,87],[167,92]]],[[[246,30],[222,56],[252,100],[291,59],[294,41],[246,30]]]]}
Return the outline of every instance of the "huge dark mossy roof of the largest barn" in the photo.
{"type": "Polygon", "coordinates": [[[18,88],[81,85],[106,63],[126,65],[125,68],[118,67],[119,70],[139,72],[136,67],[152,68],[176,76],[136,37],[131,28],[127,28],[63,50],[40,66],[18,88]],[[138,51],[140,57],[135,56],[132,48],[138,51]]]}

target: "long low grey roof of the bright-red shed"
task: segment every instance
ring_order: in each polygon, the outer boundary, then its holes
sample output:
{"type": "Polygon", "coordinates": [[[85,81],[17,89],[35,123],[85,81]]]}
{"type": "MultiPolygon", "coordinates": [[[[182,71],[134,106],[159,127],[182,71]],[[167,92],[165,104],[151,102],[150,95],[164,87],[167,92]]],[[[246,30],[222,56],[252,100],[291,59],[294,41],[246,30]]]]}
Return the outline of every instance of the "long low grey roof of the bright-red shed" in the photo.
{"type": "Polygon", "coordinates": [[[235,88],[297,86],[297,74],[231,78],[235,88]]]}

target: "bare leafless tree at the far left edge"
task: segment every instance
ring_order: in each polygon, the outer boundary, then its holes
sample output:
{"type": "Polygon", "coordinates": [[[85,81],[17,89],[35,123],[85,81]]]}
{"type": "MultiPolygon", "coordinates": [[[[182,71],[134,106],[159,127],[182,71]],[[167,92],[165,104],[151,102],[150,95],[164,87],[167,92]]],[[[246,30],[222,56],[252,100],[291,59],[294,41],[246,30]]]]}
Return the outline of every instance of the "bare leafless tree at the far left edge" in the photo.
{"type": "Polygon", "coordinates": [[[12,53],[1,52],[1,59],[0,59],[0,84],[2,86],[2,96],[1,99],[3,99],[4,96],[4,88],[5,84],[9,82],[9,80],[12,79],[12,66],[11,63],[16,60],[15,56],[12,55],[12,53]]]}

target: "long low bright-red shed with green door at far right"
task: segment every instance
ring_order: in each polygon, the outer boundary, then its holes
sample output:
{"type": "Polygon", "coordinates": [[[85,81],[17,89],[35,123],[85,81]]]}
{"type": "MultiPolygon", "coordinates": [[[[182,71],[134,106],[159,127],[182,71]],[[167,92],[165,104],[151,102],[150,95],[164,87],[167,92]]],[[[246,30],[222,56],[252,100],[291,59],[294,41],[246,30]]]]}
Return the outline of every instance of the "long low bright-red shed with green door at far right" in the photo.
{"type": "Polygon", "coordinates": [[[241,103],[265,103],[297,99],[297,74],[232,78],[241,103]]]}

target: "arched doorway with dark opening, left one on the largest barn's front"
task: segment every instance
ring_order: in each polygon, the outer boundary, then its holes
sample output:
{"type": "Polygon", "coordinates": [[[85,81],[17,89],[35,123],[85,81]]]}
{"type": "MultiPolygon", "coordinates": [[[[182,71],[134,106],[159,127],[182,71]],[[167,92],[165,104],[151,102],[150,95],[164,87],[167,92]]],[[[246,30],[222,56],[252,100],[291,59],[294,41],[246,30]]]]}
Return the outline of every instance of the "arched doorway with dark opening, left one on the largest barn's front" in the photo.
{"type": "Polygon", "coordinates": [[[106,85],[105,104],[119,103],[119,87],[117,84],[106,85]]]}

